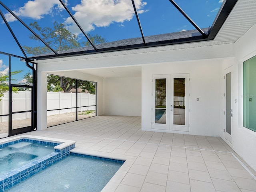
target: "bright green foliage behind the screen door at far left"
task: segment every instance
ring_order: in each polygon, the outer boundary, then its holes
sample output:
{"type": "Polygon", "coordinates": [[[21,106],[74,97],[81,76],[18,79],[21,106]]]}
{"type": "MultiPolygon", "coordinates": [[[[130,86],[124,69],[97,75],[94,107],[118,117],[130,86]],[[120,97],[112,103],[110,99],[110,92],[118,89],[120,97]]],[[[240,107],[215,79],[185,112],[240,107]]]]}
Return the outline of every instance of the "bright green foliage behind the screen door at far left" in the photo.
{"type": "MultiPolygon", "coordinates": [[[[11,72],[11,77],[20,72],[22,72],[22,70],[11,72]]],[[[15,81],[16,79],[11,79],[11,80],[15,81]]],[[[4,96],[4,93],[9,90],[9,86],[7,83],[8,81],[9,81],[9,75],[0,72],[0,101],[2,100],[2,97],[4,96]]],[[[18,88],[12,87],[12,92],[17,93],[18,88]]]]}

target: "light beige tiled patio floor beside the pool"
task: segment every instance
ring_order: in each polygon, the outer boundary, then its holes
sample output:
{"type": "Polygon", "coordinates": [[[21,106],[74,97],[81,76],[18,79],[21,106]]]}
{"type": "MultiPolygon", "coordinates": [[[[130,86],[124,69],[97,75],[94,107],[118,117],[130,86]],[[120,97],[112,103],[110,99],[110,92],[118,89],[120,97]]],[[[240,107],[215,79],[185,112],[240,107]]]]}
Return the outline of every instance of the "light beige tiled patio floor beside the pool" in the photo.
{"type": "Polygon", "coordinates": [[[26,134],[75,140],[78,153],[126,160],[103,192],[256,192],[245,168],[256,172],[220,137],[145,132],[133,116],[96,116],[26,134]]]}

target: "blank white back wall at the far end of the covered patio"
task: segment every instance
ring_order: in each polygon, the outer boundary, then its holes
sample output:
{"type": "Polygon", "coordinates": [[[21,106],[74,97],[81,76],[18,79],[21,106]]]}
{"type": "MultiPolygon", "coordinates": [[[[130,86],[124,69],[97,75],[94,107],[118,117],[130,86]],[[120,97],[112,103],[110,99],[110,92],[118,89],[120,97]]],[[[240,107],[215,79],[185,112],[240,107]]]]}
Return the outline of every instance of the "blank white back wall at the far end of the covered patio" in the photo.
{"type": "Polygon", "coordinates": [[[141,78],[104,78],[103,114],[141,116],[141,78]]]}

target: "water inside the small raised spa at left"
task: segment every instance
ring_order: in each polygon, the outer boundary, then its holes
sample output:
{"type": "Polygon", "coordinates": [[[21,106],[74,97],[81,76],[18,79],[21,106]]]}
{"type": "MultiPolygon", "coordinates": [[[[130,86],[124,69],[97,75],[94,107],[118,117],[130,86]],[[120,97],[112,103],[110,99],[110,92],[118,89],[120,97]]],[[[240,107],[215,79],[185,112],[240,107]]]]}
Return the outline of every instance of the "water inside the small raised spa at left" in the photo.
{"type": "Polygon", "coordinates": [[[0,175],[54,152],[54,146],[18,142],[0,149],[0,175]]]}

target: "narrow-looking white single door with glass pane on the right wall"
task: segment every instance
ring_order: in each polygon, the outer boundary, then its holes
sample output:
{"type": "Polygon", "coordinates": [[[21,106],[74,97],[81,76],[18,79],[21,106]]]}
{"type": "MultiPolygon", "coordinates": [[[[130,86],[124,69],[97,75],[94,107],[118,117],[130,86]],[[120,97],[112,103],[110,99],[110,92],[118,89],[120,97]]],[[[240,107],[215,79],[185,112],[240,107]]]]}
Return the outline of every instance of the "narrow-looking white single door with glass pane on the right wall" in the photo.
{"type": "Polygon", "coordinates": [[[225,128],[224,128],[224,137],[232,143],[232,67],[227,68],[224,71],[224,114],[225,114],[225,128]]]}

